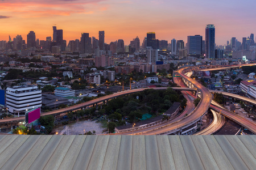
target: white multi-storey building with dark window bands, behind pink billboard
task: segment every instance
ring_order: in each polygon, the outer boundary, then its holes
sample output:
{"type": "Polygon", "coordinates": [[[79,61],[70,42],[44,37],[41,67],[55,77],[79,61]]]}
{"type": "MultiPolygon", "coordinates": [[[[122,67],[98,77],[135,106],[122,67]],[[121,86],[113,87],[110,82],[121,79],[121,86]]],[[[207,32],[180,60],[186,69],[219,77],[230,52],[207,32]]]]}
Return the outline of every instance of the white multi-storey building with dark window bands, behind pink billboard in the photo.
{"type": "Polygon", "coordinates": [[[11,114],[24,114],[27,109],[42,107],[42,91],[38,86],[15,86],[6,89],[6,105],[11,114]]]}

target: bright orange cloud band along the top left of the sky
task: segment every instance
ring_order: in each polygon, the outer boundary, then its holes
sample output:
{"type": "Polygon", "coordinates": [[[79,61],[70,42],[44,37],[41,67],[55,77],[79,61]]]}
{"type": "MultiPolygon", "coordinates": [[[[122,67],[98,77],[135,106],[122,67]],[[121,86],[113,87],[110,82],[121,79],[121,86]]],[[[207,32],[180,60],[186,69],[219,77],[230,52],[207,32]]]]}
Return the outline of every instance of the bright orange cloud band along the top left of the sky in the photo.
{"type": "MultiPolygon", "coordinates": [[[[67,16],[71,14],[92,14],[93,11],[88,5],[98,5],[98,2],[105,0],[14,0],[0,1],[1,11],[13,12],[22,18],[36,18],[53,15],[67,16]]],[[[101,8],[106,10],[106,8],[101,8]]]]}

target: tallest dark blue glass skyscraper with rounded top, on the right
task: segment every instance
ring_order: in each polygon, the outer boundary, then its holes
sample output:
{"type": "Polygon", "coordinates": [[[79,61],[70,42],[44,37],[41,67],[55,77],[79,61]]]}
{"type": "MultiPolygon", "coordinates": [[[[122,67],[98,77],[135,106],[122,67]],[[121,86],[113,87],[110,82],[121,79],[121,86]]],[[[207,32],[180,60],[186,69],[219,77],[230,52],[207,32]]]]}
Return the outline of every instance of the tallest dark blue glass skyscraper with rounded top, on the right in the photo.
{"type": "Polygon", "coordinates": [[[215,57],[215,27],[213,24],[208,24],[205,28],[205,56],[209,59],[215,57]]]}

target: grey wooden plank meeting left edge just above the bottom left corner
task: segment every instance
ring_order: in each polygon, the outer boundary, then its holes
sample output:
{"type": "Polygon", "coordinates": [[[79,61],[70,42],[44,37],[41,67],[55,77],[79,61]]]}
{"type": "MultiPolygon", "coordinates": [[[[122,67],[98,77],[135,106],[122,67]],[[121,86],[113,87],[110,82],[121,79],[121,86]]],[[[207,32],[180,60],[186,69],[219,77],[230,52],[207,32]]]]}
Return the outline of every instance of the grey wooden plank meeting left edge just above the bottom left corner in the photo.
{"type": "Polygon", "coordinates": [[[1,153],[0,165],[5,164],[13,154],[19,149],[20,146],[30,137],[29,135],[19,135],[11,144],[1,153]]]}

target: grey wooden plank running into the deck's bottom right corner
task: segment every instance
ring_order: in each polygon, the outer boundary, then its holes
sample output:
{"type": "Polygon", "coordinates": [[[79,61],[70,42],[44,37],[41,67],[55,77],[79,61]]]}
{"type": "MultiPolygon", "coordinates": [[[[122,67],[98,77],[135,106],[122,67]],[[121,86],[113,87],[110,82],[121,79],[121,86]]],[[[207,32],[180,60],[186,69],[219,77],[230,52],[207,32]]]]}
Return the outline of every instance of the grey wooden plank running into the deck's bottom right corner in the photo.
{"type": "MultiPolygon", "coordinates": [[[[240,158],[245,162],[247,167],[249,169],[255,169],[256,168],[256,159],[253,155],[251,155],[251,152],[247,150],[245,145],[240,141],[240,139],[237,136],[234,135],[226,135],[226,138],[233,146],[234,150],[237,151],[238,155],[240,155],[240,158]]],[[[254,147],[255,148],[255,147],[254,147]]]]}

